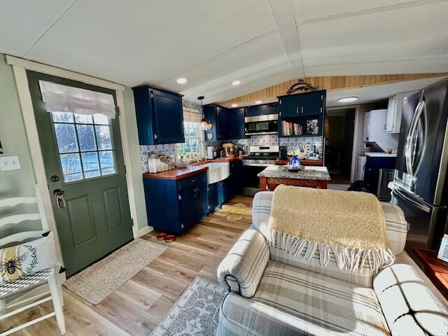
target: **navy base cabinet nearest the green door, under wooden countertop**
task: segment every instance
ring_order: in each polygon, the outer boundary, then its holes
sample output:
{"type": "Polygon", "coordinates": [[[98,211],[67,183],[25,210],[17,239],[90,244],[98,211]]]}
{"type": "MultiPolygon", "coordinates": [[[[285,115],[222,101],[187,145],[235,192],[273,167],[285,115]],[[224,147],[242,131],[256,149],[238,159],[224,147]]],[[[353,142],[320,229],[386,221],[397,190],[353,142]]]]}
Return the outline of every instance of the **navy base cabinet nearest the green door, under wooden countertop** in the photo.
{"type": "Polygon", "coordinates": [[[144,178],[148,224],[180,235],[209,212],[207,172],[181,180],[144,178]]]}

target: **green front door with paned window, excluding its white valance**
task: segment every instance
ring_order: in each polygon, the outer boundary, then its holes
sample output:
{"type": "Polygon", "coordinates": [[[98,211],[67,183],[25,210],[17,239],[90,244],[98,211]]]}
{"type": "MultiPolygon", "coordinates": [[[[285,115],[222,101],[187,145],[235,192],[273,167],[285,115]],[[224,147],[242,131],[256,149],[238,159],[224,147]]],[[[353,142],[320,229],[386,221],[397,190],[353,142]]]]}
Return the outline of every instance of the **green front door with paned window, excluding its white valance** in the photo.
{"type": "Polygon", "coordinates": [[[132,240],[118,116],[45,110],[39,80],[112,94],[113,90],[27,71],[45,174],[67,275],[132,240]]]}

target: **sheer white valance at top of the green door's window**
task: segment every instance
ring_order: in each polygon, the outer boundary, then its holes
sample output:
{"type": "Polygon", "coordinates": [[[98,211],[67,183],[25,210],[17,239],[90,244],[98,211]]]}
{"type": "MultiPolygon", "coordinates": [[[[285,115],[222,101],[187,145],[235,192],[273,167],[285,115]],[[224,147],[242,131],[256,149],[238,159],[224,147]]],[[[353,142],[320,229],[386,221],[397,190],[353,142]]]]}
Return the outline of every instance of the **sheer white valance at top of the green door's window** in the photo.
{"type": "Polygon", "coordinates": [[[102,113],[109,118],[115,118],[116,106],[112,94],[45,80],[39,80],[39,85],[48,112],[71,112],[85,115],[102,113]]]}

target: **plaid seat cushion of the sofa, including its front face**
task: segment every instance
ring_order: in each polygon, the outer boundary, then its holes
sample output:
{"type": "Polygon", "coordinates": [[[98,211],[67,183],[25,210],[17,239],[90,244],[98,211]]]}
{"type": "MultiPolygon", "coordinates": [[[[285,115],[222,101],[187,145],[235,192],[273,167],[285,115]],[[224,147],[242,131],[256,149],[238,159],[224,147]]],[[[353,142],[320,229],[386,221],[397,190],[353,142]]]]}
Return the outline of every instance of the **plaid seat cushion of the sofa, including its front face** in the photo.
{"type": "Polygon", "coordinates": [[[390,335],[372,288],[269,261],[251,300],[228,295],[220,335],[390,335]]]}

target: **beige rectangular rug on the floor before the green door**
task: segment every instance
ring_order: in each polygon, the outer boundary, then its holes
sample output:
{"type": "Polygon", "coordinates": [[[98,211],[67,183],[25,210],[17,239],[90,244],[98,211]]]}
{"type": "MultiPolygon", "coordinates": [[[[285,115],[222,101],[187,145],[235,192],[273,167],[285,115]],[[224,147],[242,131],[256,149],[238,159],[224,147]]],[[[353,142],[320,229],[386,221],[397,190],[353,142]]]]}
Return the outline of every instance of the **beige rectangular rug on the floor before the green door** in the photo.
{"type": "Polygon", "coordinates": [[[64,286],[88,302],[99,304],[166,249],[167,246],[137,238],[71,276],[64,286]]]}

